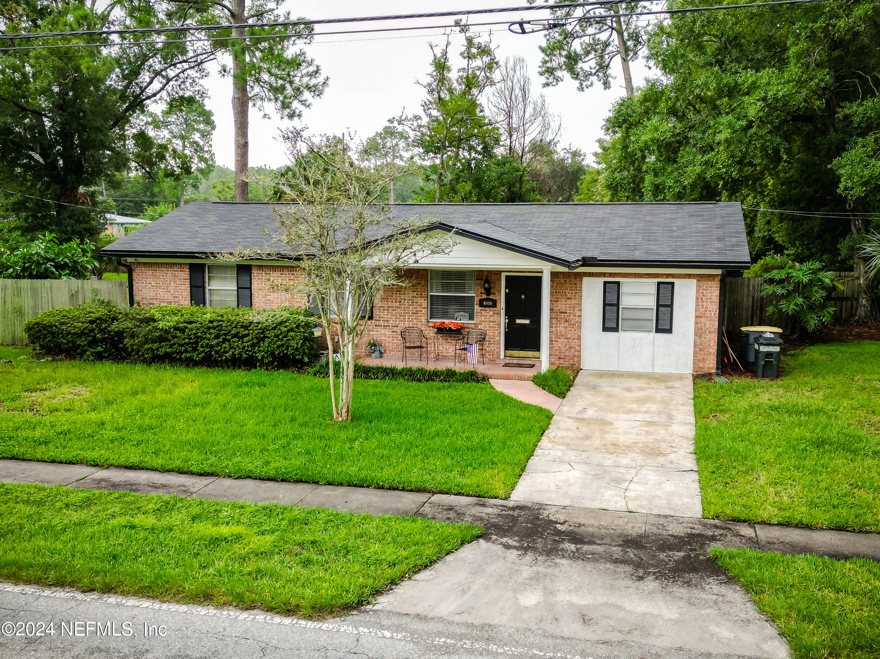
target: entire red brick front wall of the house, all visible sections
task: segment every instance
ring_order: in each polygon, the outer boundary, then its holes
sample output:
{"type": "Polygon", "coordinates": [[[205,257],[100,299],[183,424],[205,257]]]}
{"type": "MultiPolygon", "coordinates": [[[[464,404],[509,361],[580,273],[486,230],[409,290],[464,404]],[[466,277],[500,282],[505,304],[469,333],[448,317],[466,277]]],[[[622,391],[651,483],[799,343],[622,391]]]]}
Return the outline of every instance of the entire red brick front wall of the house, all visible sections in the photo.
{"type": "MultiPolygon", "coordinates": [[[[143,305],[189,304],[189,266],[170,263],[132,264],[135,297],[143,305]]],[[[477,271],[477,298],[483,296],[483,278],[488,276],[492,297],[501,301],[501,272],[477,271]]],[[[422,328],[428,337],[431,358],[434,357],[434,329],[428,322],[428,271],[410,269],[403,272],[409,286],[394,286],[381,293],[373,304],[373,320],[368,322],[361,343],[361,353],[368,353],[366,344],[376,338],[385,347],[386,358],[400,358],[400,329],[422,328]]],[[[718,333],[719,275],[653,274],[633,272],[553,272],[550,276],[550,365],[572,369],[581,366],[581,301],[582,279],[696,279],[697,306],[694,326],[693,373],[715,372],[715,347],[718,333]]],[[[286,265],[254,265],[252,269],[253,306],[276,307],[282,304],[302,306],[304,296],[271,290],[271,283],[295,286],[300,281],[295,267],[286,265]]],[[[486,361],[501,361],[501,308],[477,308],[476,322],[462,323],[464,329],[479,327],[487,332],[484,349],[486,361]]],[[[441,358],[451,358],[452,337],[436,337],[441,358]]],[[[418,358],[418,353],[411,356],[418,358]]]]}

